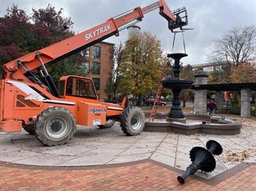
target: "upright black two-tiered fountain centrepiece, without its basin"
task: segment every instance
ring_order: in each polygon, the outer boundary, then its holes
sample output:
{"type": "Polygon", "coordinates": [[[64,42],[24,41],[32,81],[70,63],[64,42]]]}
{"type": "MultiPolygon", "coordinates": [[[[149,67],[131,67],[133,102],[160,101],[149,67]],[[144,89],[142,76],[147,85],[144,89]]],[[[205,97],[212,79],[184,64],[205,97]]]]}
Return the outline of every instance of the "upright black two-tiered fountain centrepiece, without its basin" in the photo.
{"type": "Polygon", "coordinates": [[[174,77],[168,75],[164,80],[162,80],[162,86],[173,91],[172,107],[171,111],[169,111],[167,121],[186,122],[182,112],[182,107],[180,106],[180,92],[183,89],[191,88],[192,82],[190,80],[180,80],[180,59],[185,56],[188,56],[188,54],[173,53],[167,55],[167,57],[173,58],[173,60],[175,60],[173,65],[174,77]]]}

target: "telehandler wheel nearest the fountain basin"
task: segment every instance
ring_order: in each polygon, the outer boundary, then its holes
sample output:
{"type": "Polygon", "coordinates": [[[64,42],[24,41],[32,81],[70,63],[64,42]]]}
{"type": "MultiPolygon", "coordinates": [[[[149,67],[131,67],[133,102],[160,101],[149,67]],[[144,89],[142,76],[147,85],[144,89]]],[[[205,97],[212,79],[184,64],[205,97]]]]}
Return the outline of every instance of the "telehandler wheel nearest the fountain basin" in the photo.
{"type": "Polygon", "coordinates": [[[127,107],[121,116],[120,126],[126,135],[139,135],[145,126],[145,114],[139,107],[127,107]]]}

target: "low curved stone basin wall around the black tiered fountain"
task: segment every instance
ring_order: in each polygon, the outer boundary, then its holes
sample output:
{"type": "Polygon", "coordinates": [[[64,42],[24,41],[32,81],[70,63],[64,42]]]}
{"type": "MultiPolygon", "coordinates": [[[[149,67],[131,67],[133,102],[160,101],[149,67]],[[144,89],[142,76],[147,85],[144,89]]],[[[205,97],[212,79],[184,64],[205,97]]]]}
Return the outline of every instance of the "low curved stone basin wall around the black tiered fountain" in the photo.
{"type": "MultiPolygon", "coordinates": [[[[147,116],[147,114],[145,114],[147,116]]],[[[167,113],[156,113],[157,119],[167,118],[167,113]]],[[[187,120],[200,120],[201,122],[193,122],[183,124],[180,122],[151,121],[145,122],[143,131],[150,132],[174,132],[183,135],[194,135],[196,133],[204,133],[211,135],[237,135],[241,132],[242,123],[235,119],[216,116],[208,116],[203,114],[185,114],[187,120]],[[205,122],[205,124],[203,124],[205,122]]]]}

